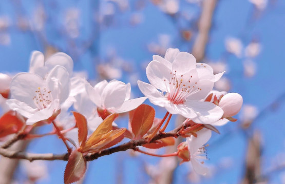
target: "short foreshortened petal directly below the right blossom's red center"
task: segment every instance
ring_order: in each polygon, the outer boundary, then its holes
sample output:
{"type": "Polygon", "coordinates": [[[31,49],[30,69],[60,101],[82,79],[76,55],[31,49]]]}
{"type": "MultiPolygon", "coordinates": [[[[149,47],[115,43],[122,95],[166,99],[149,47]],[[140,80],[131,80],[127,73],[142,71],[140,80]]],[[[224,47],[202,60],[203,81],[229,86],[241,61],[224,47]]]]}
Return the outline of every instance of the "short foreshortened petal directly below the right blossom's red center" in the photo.
{"type": "Polygon", "coordinates": [[[165,109],[170,114],[180,114],[187,118],[194,118],[197,116],[195,111],[193,111],[191,108],[186,107],[183,104],[172,104],[172,103],[169,104],[168,103],[165,105],[165,109]]]}

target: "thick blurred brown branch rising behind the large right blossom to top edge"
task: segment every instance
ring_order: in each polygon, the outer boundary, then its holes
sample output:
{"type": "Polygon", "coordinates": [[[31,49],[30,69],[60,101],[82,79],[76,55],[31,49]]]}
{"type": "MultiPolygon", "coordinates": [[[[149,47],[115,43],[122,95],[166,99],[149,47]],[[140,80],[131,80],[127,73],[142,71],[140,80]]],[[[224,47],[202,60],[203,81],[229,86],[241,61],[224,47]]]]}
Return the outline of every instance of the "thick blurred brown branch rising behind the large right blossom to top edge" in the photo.
{"type": "Polygon", "coordinates": [[[193,46],[193,55],[197,62],[200,62],[205,55],[205,48],[208,41],[208,32],[212,25],[212,17],[217,0],[203,1],[202,14],[198,22],[198,35],[193,46]]]}

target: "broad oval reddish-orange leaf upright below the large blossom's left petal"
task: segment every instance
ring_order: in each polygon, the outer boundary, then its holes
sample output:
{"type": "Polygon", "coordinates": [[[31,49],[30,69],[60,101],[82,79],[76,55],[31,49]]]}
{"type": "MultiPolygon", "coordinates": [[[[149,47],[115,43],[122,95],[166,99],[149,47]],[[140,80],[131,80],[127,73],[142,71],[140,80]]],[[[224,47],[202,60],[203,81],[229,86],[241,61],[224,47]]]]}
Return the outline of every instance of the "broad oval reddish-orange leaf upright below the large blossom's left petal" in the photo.
{"type": "Polygon", "coordinates": [[[155,109],[146,104],[140,105],[131,121],[131,130],[135,138],[141,138],[151,128],[155,118],[155,109]]]}

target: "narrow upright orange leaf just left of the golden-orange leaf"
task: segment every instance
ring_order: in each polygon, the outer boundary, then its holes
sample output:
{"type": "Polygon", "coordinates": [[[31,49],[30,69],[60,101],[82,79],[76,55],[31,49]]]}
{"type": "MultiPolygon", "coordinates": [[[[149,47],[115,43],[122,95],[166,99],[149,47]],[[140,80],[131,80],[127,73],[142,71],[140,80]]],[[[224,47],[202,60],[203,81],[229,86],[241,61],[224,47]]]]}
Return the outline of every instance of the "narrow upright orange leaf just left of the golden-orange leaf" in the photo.
{"type": "Polygon", "coordinates": [[[84,115],[79,112],[72,112],[75,117],[76,124],[78,127],[78,142],[79,145],[85,145],[88,135],[87,119],[84,115]]]}

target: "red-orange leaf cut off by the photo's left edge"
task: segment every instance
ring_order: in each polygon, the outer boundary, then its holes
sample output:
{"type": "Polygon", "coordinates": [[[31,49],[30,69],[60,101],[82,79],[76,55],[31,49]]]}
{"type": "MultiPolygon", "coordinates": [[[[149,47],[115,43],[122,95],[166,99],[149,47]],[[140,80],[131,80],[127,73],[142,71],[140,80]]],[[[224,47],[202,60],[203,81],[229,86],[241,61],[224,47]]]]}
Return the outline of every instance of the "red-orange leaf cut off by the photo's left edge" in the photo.
{"type": "Polygon", "coordinates": [[[20,131],[24,125],[24,119],[16,115],[16,112],[9,111],[0,118],[0,137],[20,131]]]}

